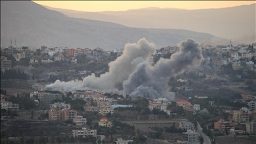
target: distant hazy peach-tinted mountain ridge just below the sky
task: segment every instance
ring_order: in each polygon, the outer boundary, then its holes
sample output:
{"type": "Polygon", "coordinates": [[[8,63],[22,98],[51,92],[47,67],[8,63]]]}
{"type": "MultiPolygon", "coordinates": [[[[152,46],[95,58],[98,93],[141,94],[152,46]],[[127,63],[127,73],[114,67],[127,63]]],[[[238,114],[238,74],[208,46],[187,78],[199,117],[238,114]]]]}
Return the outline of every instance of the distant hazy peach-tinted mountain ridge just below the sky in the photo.
{"type": "Polygon", "coordinates": [[[149,7],[127,11],[103,11],[98,13],[76,11],[71,13],[55,9],[69,17],[94,19],[119,23],[128,27],[156,29],[187,29],[210,33],[217,37],[240,43],[255,42],[256,4],[221,9],[160,9],[149,7]]]}

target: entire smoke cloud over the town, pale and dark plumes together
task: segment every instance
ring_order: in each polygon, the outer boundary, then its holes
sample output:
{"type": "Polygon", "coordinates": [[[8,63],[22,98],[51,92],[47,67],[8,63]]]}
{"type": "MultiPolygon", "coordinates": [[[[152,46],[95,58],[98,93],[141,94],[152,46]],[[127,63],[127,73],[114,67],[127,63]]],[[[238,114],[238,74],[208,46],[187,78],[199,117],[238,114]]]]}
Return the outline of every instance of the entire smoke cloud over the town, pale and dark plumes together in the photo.
{"type": "Polygon", "coordinates": [[[85,77],[83,81],[55,81],[47,87],[74,91],[76,89],[100,89],[103,91],[118,91],[123,84],[123,94],[134,97],[167,97],[173,99],[167,82],[169,77],[183,73],[189,65],[201,63],[203,55],[193,39],[181,41],[178,44],[179,53],[171,55],[170,59],[160,59],[151,66],[147,61],[155,54],[155,45],[145,38],[137,43],[127,43],[123,55],[109,63],[109,72],[95,77],[94,74],[85,77]]]}

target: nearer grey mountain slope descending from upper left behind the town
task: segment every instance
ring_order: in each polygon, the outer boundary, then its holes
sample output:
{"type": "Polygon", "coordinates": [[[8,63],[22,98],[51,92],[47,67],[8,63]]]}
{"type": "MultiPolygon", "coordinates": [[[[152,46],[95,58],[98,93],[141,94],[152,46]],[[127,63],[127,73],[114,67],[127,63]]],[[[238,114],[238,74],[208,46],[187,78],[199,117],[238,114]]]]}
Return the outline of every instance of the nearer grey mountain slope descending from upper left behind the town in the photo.
{"type": "Polygon", "coordinates": [[[9,46],[11,38],[19,46],[38,48],[41,45],[65,47],[89,47],[94,49],[123,48],[145,37],[157,48],[177,45],[191,37],[206,44],[228,44],[207,33],[182,29],[139,29],[116,23],[67,17],[46,9],[33,1],[1,1],[1,47],[9,46]]]}

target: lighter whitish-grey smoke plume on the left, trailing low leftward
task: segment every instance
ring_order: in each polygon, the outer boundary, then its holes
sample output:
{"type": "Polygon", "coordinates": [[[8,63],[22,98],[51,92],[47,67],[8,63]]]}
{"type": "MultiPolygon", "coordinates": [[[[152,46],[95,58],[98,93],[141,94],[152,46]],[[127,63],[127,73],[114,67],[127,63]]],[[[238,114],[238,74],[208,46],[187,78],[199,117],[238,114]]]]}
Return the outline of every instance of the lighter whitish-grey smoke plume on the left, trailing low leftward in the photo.
{"type": "Polygon", "coordinates": [[[137,65],[149,59],[152,54],[155,54],[155,45],[149,43],[145,38],[139,39],[137,43],[127,43],[123,55],[109,63],[109,72],[101,74],[100,77],[95,77],[93,73],[85,77],[83,81],[63,82],[57,80],[55,83],[47,85],[47,87],[54,90],[65,89],[69,91],[89,88],[114,91],[117,83],[122,84],[137,65]]]}

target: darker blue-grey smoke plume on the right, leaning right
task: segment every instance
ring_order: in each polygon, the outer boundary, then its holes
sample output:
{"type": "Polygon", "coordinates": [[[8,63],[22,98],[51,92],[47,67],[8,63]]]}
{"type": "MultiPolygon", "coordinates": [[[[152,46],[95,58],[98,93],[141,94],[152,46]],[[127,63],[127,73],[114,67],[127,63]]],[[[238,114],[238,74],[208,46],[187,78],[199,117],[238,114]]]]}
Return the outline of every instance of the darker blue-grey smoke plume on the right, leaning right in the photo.
{"type": "Polygon", "coordinates": [[[173,99],[173,93],[168,91],[168,79],[183,73],[189,65],[201,63],[203,55],[198,45],[193,39],[187,39],[178,44],[179,53],[174,53],[170,59],[160,59],[153,67],[147,63],[137,65],[123,82],[123,94],[173,99]]]}

